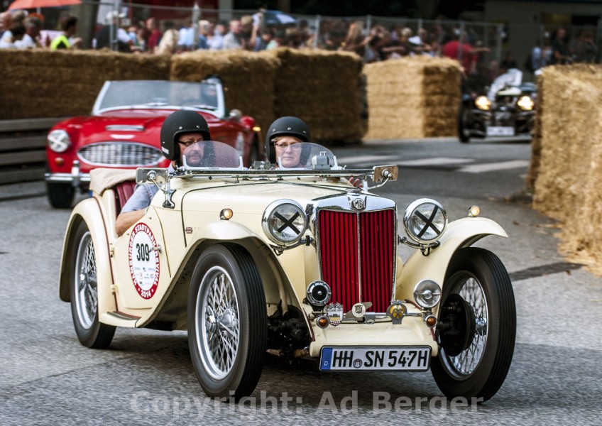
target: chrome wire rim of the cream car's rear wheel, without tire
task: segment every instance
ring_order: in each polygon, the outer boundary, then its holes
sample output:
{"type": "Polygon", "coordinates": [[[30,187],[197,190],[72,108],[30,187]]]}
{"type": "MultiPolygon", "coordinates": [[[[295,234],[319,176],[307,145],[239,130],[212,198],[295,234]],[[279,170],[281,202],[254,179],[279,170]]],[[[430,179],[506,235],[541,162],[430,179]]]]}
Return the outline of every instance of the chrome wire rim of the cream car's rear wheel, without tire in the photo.
{"type": "Polygon", "coordinates": [[[92,236],[87,231],[80,240],[75,258],[75,280],[77,294],[75,305],[77,317],[84,329],[90,329],[98,310],[96,257],[92,236]]]}

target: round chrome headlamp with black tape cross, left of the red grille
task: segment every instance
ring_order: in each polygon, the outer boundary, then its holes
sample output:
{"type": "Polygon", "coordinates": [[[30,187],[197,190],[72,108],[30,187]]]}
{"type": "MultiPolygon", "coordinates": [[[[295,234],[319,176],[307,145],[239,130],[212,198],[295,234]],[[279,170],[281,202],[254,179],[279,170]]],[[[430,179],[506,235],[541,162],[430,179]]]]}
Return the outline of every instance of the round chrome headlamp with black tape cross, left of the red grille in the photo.
{"type": "Polygon", "coordinates": [[[276,244],[295,244],[307,229],[307,218],[299,203],[278,200],[263,212],[261,226],[268,238],[276,244]]]}

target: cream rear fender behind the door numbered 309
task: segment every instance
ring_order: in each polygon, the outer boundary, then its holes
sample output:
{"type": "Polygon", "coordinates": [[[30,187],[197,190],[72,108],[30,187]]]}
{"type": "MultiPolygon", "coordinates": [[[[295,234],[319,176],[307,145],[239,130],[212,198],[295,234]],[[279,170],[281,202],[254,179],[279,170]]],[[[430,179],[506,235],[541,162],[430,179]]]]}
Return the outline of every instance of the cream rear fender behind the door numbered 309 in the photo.
{"type": "Polygon", "coordinates": [[[115,310],[114,299],[111,295],[113,284],[113,272],[111,268],[111,257],[109,252],[109,241],[106,234],[106,218],[102,214],[99,201],[96,198],[87,198],[78,203],[71,212],[65,240],[62,246],[62,258],[60,263],[59,296],[60,300],[70,302],[70,280],[73,256],[77,250],[78,241],[73,241],[75,231],[80,222],[86,222],[92,244],[94,244],[94,256],[97,266],[97,288],[98,288],[98,312],[99,315],[109,310],[115,310]]]}

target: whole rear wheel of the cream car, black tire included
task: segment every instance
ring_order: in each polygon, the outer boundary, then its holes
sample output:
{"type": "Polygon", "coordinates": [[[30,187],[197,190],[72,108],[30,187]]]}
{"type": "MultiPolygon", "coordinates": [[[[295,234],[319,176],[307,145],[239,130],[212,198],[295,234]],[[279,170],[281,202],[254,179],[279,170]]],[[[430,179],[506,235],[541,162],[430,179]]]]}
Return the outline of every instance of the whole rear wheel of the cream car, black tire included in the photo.
{"type": "Polygon", "coordinates": [[[72,241],[70,298],[75,334],[82,345],[104,349],[111,344],[116,327],[98,320],[96,256],[92,236],[83,220],[72,241]]]}

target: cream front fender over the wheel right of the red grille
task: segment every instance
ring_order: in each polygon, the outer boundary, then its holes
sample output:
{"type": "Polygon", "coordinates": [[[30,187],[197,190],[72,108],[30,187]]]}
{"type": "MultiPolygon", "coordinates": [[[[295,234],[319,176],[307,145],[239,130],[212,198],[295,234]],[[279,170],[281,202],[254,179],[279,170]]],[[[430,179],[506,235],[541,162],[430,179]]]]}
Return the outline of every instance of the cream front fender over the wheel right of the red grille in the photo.
{"type": "Polygon", "coordinates": [[[414,300],[414,286],[421,280],[433,280],[443,287],[447,266],[454,253],[488,235],[508,238],[499,224],[485,217],[464,217],[449,223],[439,240],[441,244],[432,249],[429,256],[422,256],[417,250],[407,259],[395,284],[396,297],[414,300]]]}

